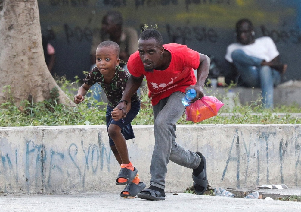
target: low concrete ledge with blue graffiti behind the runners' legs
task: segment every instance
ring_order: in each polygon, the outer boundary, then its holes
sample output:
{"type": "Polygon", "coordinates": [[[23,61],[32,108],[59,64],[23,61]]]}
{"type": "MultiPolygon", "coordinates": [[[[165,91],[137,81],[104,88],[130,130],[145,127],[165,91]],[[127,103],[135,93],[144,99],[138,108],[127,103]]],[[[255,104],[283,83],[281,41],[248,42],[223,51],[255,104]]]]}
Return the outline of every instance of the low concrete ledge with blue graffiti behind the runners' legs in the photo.
{"type": "MultiPolygon", "coordinates": [[[[134,125],[129,156],[149,185],[154,147],[152,125],[134,125]]],[[[256,188],[301,184],[301,125],[177,125],[177,142],[201,151],[209,184],[256,188]]],[[[0,128],[0,192],[64,193],[122,191],[120,170],[108,145],[106,126],[0,128]]],[[[193,184],[192,170],[168,165],[166,192],[193,184]]]]}

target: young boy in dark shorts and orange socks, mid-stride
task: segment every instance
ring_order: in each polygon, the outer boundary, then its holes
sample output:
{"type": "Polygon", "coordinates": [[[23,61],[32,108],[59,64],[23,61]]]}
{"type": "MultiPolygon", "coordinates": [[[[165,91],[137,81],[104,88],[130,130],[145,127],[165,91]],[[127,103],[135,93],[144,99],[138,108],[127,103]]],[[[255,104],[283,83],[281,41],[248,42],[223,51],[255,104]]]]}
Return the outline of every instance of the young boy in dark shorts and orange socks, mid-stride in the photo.
{"type": "Polygon", "coordinates": [[[95,83],[99,83],[107,96],[107,131],[111,150],[121,166],[116,179],[117,185],[126,185],[120,193],[121,197],[135,196],[145,188],[140,182],[138,170],[129,161],[126,140],[135,138],[131,126],[132,120],[140,110],[140,99],[136,92],[128,104],[130,110],[123,111],[115,108],[122,97],[129,73],[119,66],[119,45],[113,41],[104,41],[96,49],[96,67],[84,79],[84,84],[74,96],[74,102],[79,104],[85,99],[87,91],[95,83]],[[119,119],[126,114],[126,117],[119,119]],[[118,121],[115,121],[118,117],[118,121]]]}

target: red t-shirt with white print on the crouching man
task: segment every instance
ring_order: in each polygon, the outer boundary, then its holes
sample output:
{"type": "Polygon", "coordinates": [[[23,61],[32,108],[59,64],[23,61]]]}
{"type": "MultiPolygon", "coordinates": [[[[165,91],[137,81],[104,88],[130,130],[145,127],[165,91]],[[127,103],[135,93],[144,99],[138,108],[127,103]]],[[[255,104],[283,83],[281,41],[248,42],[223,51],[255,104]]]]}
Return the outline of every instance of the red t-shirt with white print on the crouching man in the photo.
{"type": "Polygon", "coordinates": [[[152,105],[158,104],[161,99],[170,96],[176,91],[185,92],[190,85],[195,85],[194,70],[200,65],[200,55],[186,45],[169,43],[163,45],[165,51],[171,54],[171,62],[165,70],[146,72],[139,52],[133,53],[127,63],[127,68],[135,77],[144,75],[149,89],[148,97],[152,105]]]}

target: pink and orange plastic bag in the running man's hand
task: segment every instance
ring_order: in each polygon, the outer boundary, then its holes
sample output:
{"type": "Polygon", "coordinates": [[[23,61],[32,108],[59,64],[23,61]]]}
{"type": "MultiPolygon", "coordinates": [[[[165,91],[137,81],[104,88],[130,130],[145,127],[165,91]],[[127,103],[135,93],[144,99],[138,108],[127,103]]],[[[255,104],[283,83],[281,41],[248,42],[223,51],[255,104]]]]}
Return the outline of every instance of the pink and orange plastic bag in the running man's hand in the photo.
{"type": "Polygon", "coordinates": [[[204,96],[186,107],[185,114],[187,121],[194,123],[201,122],[217,115],[219,109],[224,105],[216,97],[204,96]]]}

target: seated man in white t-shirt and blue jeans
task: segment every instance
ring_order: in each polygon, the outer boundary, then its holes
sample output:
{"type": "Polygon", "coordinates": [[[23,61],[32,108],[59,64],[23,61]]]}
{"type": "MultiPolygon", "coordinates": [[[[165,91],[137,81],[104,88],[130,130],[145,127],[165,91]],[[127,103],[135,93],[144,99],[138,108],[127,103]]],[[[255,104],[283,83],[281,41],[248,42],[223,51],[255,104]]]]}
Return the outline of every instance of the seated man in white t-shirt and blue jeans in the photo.
{"type": "Polygon", "coordinates": [[[237,68],[244,85],[260,87],[265,108],[273,108],[274,87],[281,81],[287,65],[279,62],[279,52],[270,37],[255,39],[253,24],[248,19],[236,23],[237,43],[227,48],[225,59],[237,68]]]}

